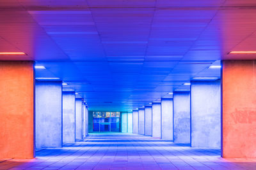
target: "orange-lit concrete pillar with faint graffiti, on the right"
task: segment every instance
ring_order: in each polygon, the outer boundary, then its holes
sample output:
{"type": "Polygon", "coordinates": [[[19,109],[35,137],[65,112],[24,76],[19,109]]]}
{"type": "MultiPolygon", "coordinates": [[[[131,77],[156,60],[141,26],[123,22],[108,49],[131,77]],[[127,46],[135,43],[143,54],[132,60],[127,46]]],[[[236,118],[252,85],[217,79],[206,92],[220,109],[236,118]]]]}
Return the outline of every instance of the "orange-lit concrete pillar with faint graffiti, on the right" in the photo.
{"type": "Polygon", "coordinates": [[[223,61],[222,156],[256,158],[256,60],[223,61]]]}

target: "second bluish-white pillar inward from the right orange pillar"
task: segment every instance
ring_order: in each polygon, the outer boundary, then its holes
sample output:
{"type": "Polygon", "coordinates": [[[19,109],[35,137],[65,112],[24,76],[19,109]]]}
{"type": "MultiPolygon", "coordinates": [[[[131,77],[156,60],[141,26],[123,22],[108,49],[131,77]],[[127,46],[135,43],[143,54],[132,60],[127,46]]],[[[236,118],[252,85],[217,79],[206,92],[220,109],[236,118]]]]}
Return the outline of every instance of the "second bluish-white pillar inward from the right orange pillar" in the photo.
{"type": "Polygon", "coordinates": [[[190,143],[190,92],[173,92],[173,142],[190,143]]]}

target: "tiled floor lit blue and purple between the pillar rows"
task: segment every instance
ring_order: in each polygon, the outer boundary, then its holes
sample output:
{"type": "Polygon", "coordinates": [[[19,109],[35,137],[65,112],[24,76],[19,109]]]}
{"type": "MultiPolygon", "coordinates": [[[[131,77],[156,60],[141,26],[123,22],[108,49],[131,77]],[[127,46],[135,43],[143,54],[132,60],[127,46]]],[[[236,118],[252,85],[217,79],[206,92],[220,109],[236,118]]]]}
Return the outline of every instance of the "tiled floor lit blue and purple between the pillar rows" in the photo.
{"type": "Polygon", "coordinates": [[[135,134],[91,134],[32,160],[0,160],[0,169],[256,169],[256,159],[222,159],[220,150],[189,148],[135,134]]]}

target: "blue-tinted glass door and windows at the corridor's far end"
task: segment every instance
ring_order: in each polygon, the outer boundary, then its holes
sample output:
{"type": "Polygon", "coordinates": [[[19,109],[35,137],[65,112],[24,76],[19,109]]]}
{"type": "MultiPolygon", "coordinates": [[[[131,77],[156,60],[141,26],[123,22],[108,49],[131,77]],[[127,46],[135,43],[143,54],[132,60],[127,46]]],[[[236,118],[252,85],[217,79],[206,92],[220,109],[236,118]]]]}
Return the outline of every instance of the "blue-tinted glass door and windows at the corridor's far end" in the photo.
{"type": "Polygon", "coordinates": [[[120,132],[120,112],[93,112],[93,132],[120,132]]]}

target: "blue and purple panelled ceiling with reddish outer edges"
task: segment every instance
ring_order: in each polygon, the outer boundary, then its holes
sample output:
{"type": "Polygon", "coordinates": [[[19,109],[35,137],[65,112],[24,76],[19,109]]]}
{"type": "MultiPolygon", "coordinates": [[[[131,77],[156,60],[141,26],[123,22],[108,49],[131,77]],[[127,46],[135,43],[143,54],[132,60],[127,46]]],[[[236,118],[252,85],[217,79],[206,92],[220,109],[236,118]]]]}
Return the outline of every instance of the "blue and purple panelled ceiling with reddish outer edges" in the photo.
{"type": "Polygon", "coordinates": [[[1,0],[1,60],[35,60],[95,111],[130,111],[220,78],[221,59],[255,50],[255,0],[1,0]],[[247,8],[251,7],[251,8],[247,8]]]}

